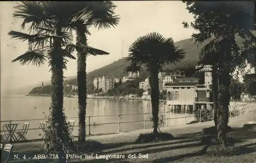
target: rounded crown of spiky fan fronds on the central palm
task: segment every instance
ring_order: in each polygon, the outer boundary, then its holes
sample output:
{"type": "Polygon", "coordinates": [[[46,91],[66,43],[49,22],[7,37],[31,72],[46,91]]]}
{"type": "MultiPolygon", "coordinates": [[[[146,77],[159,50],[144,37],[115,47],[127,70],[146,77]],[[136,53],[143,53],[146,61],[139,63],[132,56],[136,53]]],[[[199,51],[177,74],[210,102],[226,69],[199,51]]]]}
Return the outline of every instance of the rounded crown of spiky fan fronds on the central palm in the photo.
{"type": "Polygon", "coordinates": [[[159,33],[149,33],[136,39],[129,47],[129,60],[140,62],[162,71],[166,64],[177,64],[185,58],[184,49],[178,49],[172,38],[164,38],[159,33]]]}

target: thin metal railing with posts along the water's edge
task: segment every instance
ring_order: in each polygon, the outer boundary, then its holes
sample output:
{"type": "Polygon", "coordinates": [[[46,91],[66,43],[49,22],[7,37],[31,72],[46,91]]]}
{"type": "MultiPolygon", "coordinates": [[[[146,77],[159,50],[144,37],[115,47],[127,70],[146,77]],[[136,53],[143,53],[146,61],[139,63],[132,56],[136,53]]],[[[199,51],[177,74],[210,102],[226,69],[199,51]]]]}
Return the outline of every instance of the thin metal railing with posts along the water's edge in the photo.
{"type": "MultiPolygon", "coordinates": [[[[165,105],[164,105],[164,103],[165,103],[166,101],[164,101],[161,105],[163,105],[164,106],[164,108],[165,108],[165,105]]],[[[230,117],[232,117],[232,114],[231,113],[235,113],[235,114],[233,114],[234,116],[240,116],[240,115],[243,115],[243,114],[246,114],[249,110],[251,110],[251,108],[249,107],[249,105],[248,105],[249,103],[247,103],[247,104],[243,104],[243,105],[240,105],[240,106],[246,106],[245,108],[242,108],[241,110],[236,110],[236,111],[231,111],[231,112],[229,112],[230,113],[230,117]]],[[[236,107],[239,107],[239,106],[236,106],[236,107]]],[[[254,107],[252,107],[252,108],[255,108],[255,106],[254,107]]],[[[200,110],[201,111],[201,110],[200,110]]],[[[169,113],[172,113],[172,111],[166,111],[165,112],[165,109],[164,109],[164,112],[159,112],[159,114],[163,114],[163,116],[165,117],[165,118],[163,118],[162,120],[165,120],[165,126],[166,127],[168,127],[168,120],[172,120],[172,119],[184,119],[184,124],[187,124],[187,118],[189,118],[189,117],[195,117],[195,115],[193,115],[193,116],[187,116],[186,115],[186,112],[184,113],[184,117],[177,117],[177,118],[169,118],[169,113]]],[[[107,124],[118,124],[118,132],[121,132],[121,128],[120,128],[120,125],[122,124],[122,123],[135,123],[135,122],[144,122],[144,129],[146,129],[146,122],[148,122],[148,121],[151,121],[151,120],[148,120],[147,119],[147,115],[148,114],[152,114],[151,112],[149,112],[149,113],[136,113],[136,114],[118,114],[118,115],[98,115],[98,116],[86,116],[86,118],[88,118],[88,124],[86,124],[86,126],[88,126],[88,129],[89,129],[89,135],[91,135],[91,126],[97,126],[97,125],[107,125],[107,124]],[[121,122],[121,117],[122,116],[128,116],[128,115],[141,115],[141,114],[144,114],[144,120],[138,120],[138,121],[125,121],[125,122],[121,122]],[[109,123],[97,123],[97,124],[95,124],[95,123],[91,123],[91,118],[92,117],[113,117],[113,116],[115,116],[115,117],[118,117],[118,121],[117,122],[109,122],[109,123]]],[[[233,116],[233,117],[234,117],[233,116]]],[[[74,119],[74,118],[76,118],[76,119],[78,119],[78,117],[68,117],[67,119],[74,119]]],[[[200,122],[201,122],[201,112],[200,112],[200,117],[199,117],[199,119],[200,119],[200,122]]],[[[3,122],[8,122],[9,124],[12,124],[13,122],[29,122],[29,121],[47,121],[48,119],[47,118],[43,118],[43,119],[26,119],[26,120],[9,120],[9,121],[0,121],[1,123],[3,123],[3,122]]],[[[74,125],[74,127],[78,127],[78,125],[74,125]]],[[[162,126],[163,127],[163,126],[162,126]]],[[[39,127],[39,125],[38,125],[38,128],[29,128],[28,130],[38,130],[38,129],[41,129],[40,127],[39,127]]],[[[20,131],[20,130],[22,130],[22,129],[16,129],[15,131],[20,131]]],[[[8,132],[7,130],[1,130],[1,132],[8,132]]]]}

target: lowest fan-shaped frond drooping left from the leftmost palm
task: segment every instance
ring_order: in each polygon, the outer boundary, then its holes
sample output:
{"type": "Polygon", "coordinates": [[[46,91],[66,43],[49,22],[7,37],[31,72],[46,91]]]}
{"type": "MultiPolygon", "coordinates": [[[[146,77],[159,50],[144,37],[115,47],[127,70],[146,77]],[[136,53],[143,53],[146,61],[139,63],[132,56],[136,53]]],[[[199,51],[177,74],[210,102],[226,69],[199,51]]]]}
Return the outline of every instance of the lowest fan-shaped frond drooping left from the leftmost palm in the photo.
{"type": "Polygon", "coordinates": [[[25,52],[23,55],[12,60],[12,63],[18,61],[21,65],[29,65],[31,63],[32,65],[40,66],[44,64],[46,58],[47,57],[42,53],[42,51],[29,50],[25,52]]]}

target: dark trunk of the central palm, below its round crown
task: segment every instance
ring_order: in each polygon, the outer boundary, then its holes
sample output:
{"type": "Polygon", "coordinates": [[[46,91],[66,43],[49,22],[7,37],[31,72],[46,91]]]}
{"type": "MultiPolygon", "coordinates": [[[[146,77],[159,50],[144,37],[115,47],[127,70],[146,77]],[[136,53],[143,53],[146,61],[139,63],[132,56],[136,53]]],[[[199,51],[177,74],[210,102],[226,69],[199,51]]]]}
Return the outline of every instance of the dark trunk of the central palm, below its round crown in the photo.
{"type": "Polygon", "coordinates": [[[159,112],[159,86],[158,86],[158,71],[153,70],[150,74],[150,87],[151,87],[151,104],[152,116],[154,123],[153,133],[158,133],[158,112],[159,112]]]}

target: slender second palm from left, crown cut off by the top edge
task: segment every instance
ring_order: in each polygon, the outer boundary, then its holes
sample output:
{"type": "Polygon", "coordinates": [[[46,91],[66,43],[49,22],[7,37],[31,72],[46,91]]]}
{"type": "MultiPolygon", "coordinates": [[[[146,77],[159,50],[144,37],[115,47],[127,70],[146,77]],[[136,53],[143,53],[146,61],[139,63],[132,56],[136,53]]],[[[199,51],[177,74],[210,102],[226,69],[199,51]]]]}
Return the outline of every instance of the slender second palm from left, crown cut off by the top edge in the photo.
{"type": "MultiPolygon", "coordinates": [[[[109,55],[108,52],[88,47],[87,35],[90,35],[89,28],[94,25],[98,29],[115,27],[119,18],[114,16],[114,4],[110,1],[79,2],[74,3],[78,11],[87,10],[91,12],[88,19],[79,18],[73,22],[72,28],[76,31],[77,50],[77,83],[78,83],[78,141],[84,144],[86,141],[86,105],[87,105],[87,78],[86,60],[88,55],[109,55]]],[[[74,47],[74,46],[71,46],[74,47]]]]}

